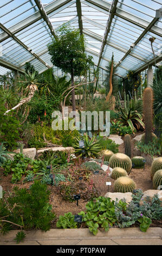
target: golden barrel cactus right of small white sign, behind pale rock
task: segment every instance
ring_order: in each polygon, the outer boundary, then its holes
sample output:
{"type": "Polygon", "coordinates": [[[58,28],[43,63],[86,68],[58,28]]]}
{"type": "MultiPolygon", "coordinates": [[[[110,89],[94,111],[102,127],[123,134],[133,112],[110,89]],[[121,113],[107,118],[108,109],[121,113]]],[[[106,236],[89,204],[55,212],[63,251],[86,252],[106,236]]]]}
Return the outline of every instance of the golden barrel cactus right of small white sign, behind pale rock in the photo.
{"type": "Polygon", "coordinates": [[[135,182],[127,176],[120,177],[114,182],[115,192],[120,193],[133,192],[135,186],[135,182]]]}

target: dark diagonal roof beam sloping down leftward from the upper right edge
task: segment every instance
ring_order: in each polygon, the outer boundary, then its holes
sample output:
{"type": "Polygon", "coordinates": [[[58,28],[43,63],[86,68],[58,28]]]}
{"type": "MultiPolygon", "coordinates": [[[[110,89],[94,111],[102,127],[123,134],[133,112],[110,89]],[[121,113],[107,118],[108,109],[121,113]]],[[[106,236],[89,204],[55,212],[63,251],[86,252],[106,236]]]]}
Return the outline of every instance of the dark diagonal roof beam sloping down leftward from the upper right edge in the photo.
{"type": "MultiPolygon", "coordinates": [[[[147,32],[154,26],[154,24],[159,20],[159,18],[154,18],[152,20],[152,22],[147,26],[147,28],[144,30],[144,32],[142,32],[139,36],[139,38],[134,42],[133,47],[135,47],[139,42],[140,40],[147,34],[147,32]]],[[[120,63],[128,56],[128,55],[131,55],[131,51],[132,51],[132,48],[130,47],[129,50],[126,52],[125,56],[122,57],[122,59],[120,60],[120,62],[116,65],[115,68],[118,68],[118,66],[120,66],[120,63]]]]}

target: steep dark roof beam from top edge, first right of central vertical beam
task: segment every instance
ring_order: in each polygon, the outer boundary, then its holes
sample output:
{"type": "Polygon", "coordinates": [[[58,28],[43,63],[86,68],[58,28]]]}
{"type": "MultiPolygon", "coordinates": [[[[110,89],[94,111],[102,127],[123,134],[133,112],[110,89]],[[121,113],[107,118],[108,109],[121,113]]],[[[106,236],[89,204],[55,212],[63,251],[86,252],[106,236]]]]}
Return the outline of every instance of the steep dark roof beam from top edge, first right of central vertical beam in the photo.
{"type": "Polygon", "coordinates": [[[104,48],[105,48],[105,45],[107,42],[107,36],[108,36],[108,33],[111,28],[111,24],[112,24],[113,17],[115,15],[117,4],[118,4],[118,0],[113,0],[111,8],[109,9],[109,17],[108,17],[108,21],[107,21],[107,25],[106,25],[106,29],[105,29],[105,34],[104,34],[103,40],[102,40],[98,66],[100,65],[100,62],[101,62],[102,54],[103,54],[103,51],[104,51],[104,48]]]}

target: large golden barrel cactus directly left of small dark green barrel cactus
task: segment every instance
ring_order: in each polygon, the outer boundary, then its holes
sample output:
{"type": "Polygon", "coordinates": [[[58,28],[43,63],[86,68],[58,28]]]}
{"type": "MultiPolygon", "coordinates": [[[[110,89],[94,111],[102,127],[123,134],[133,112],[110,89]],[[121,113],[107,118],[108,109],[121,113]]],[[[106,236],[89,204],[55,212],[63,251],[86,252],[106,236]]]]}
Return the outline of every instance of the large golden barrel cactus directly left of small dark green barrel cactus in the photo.
{"type": "Polygon", "coordinates": [[[121,167],[129,173],[132,168],[132,161],[127,155],[116,153],[109,159],[109,165],[111,168],[121,167]]]}

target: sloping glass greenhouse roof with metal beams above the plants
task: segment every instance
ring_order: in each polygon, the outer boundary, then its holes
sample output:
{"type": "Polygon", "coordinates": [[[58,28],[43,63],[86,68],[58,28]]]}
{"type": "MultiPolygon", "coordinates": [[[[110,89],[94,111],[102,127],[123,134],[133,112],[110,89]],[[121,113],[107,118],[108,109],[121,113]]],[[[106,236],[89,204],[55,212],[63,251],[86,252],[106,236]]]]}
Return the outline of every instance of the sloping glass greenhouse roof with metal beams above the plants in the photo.
{"type": "Polygon", "coordinates": [[[161,4],[160,0],[1,0],[0,75],[9,70],[23,73],[26,62],[40,73],[51,68],[47,44],[63,23],[85,35],[86,52],[96,66],[105,69],[113,53],[120,77],[129,70],[159,66],[161,4]]]}

